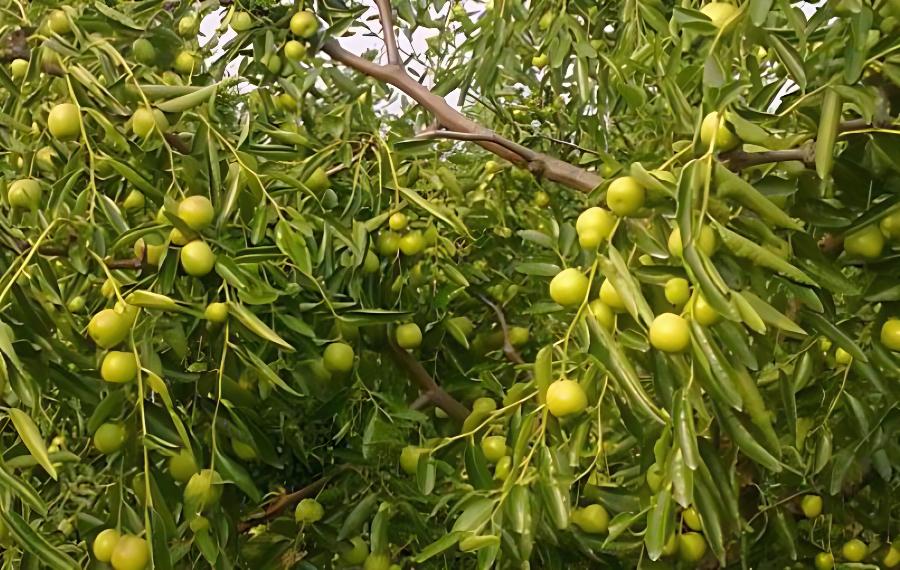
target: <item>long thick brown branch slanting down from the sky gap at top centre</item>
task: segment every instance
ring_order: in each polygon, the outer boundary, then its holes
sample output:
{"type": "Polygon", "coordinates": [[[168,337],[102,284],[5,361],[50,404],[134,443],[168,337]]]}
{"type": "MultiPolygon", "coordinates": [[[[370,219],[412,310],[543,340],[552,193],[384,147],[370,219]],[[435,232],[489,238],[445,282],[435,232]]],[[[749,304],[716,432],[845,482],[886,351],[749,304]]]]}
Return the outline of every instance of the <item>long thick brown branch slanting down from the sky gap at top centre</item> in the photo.
{"type": "Polygon", "coordinates": [[[350,53],[334,39],[327,40],[322,46],[322,51],[347,67],[393,85],[403,91],[433,114],[438,124],[448,131],[479,135],[479,139],[475,141],[478,145],[505,158],[516,166],[529,168],[532,172],[537,170],[548,180],[581,190],[582,192],[590,192],[603,182],[603,178],[594,172],[540,152],[531,151],[534,152],[532,161],[523,159],[518,152],[510,150],[510,145],[515,143],[507,141],[497,133],[476,123],[451,107],[443,97],[436,95],[410,77],[406,70],[399,65],[378,65],[368,59],[350,53]]]}

